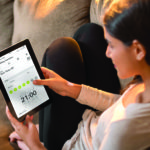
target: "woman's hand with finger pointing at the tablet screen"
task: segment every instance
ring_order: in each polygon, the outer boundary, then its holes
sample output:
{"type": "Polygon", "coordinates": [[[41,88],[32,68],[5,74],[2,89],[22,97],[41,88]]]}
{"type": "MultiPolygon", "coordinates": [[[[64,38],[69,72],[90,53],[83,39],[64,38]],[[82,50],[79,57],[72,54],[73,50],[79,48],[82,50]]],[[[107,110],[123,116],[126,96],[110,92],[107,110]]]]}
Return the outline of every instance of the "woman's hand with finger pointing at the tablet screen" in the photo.
{"type": "Polygon", "coordinates": [[[41,68],[45,79],[34,80],[35,85],[46,85],[61,96],[69,96],[76,99],[80,93],[81,85],[68,82],[57,73],[47,68],[41,68]]]}

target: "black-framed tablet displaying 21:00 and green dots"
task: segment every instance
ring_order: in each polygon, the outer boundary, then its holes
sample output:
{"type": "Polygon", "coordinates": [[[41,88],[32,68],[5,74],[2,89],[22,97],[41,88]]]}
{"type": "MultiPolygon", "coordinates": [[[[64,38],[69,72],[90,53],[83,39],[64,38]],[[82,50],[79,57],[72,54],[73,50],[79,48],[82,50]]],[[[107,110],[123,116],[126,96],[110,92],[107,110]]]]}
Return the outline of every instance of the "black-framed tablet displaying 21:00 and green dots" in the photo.
{"type": "Polygon", "coordinates": [[[50,89],[34,85],[35,79],[44,79],[44,76],[28,39],[0,51],[1,91],[19,121],[52,101],[50,89]]]}

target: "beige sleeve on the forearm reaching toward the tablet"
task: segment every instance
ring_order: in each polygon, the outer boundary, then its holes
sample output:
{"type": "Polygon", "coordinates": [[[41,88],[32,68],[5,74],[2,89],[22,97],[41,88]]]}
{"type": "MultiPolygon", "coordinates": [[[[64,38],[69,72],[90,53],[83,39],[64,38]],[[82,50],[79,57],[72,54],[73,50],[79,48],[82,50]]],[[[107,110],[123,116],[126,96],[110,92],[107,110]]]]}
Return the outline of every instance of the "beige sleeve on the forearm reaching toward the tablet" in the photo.
{"type": "Polygon", "coordinates": [[[81,92],[76,99],[79,103],[104,111],[114,104],[121,95],[104,92],[96,88],[82,85],[81,92]]]}

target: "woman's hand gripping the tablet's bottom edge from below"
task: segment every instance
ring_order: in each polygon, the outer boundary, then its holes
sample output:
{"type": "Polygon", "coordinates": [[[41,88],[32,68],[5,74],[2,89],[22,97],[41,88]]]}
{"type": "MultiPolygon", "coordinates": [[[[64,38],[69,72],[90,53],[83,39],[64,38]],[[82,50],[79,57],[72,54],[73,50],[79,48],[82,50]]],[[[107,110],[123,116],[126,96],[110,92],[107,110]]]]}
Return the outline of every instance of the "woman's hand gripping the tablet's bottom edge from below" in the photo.
{"type": "Polygon", "coordinates": [[[17,133],[15,136],[18,136],[18,139],[23,140],[30,150],[45,150],[40,142],[38,130],[29,116],[26,117],[26,125],[24,125],[12,116],[8,107],[6,107],[6,114],[17,133]]]}

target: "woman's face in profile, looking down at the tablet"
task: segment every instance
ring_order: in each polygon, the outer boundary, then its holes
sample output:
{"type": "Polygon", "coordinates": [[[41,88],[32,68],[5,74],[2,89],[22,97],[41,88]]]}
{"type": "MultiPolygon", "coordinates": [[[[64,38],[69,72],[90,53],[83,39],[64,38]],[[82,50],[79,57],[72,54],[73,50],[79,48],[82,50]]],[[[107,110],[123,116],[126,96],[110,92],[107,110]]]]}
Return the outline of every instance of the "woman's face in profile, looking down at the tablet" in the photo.
{"type": "Polygon", "coordinates": [[[125,79],[134,76],[134,68],[137,63],[134,58],[133,46],[126,46],[119,39],[112,37],[105,27],[104,35],[108,42],[106,56],[112,60],[119,78],[125,79]]]}

